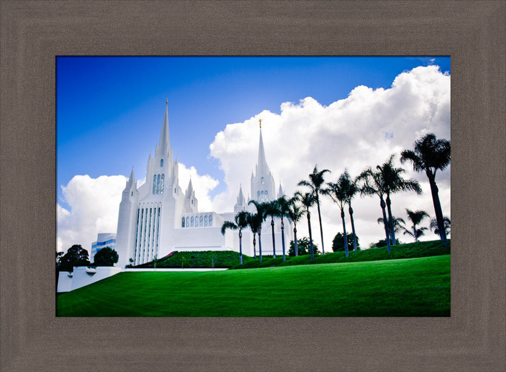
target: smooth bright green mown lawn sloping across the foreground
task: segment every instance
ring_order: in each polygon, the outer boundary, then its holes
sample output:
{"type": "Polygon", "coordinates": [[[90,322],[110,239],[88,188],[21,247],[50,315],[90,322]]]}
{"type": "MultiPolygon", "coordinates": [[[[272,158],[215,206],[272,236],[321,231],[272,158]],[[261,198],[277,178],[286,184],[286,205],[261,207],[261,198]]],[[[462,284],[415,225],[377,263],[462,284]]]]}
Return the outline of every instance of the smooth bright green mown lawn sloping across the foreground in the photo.
{"type": "Polygon", "coordinates": [[[210,272],[126,272],[58,316],[449,316],[450,255],[210,272]]]}

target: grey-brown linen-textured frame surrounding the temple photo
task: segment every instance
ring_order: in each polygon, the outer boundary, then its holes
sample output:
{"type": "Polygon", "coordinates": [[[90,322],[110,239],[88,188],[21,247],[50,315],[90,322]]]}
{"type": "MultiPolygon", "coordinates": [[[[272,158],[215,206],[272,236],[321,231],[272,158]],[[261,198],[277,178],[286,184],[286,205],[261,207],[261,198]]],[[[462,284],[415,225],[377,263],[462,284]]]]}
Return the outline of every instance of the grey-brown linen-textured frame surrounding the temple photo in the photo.
{"type": "Polygon", "coordinates": [[[2,371],[506,370],[506,2],[0,7],[2,371]],[[56,55],[450,55],[451,317],[55,317],[56,55]]]}

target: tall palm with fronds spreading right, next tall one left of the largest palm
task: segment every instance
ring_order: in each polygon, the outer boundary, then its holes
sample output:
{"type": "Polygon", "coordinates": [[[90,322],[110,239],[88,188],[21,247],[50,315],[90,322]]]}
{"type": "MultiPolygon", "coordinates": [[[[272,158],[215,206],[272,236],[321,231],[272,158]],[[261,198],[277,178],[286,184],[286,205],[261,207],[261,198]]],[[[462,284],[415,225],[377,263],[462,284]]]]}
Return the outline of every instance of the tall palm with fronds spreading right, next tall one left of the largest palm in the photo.
{"type": "Polygon", "coordinates": [[[390,158],[382,164],[382,166],[377,166],[376,168],[382,173],[382,177],[384,180],[385,192],[387,202],[387,211],[388,211],[388,221],[390,225],[390,237],[392,239],[392,244],[395,245],[395,230],[394,230],[394,221],[392,218],[392,209],[391,209],[391,200],[390,194],[400,192],[400,191],[415,191],[418,195],[421,194],[421,188],[418,181],[414,179],[405,180],[401,177],[401,174],[406,171],[402,168],[394,168],[392,162],[394,160],[395,155],[391,155],[390,158]]]}

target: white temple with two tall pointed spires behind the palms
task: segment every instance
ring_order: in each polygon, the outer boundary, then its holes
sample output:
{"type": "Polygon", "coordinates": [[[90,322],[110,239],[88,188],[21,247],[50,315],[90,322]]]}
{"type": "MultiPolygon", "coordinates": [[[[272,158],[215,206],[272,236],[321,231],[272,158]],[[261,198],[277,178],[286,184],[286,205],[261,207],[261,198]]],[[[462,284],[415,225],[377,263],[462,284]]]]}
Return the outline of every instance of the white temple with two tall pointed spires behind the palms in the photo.
{"type": "MultiPolygon", "coordinates": [[[[255,173],[251,172],[251,197],[258,201],[270,201],[283,195],[281,183],[275,195],[274,178],[267,165],[262,123],[260,122],[260,143],[255,173]]],[[[248,205],[242,187],[239,187],[234,211],[229,213],[199,212],[198,201],[190,179],[186,191],[179,185],[178,160],[173,161],[168,132],[168,111],[165,116],[154,157],[151,154],[146,167],[146,182],[136,186],[134,170],[130,174],[119,204],[116,248],[119,255],[118,266],[124,267],[129,259],[134,265],[161,258],[173,251],[223,251],[239,252],[238,232],[227,230],[221,233],[225,221],[234,221],[235,215],[242,211],[255,213],[254,205],[248,205]]],[[[276,255],[282,254],[281,226],[275,221],[276,255]]],[[[293,227],[284,219],[285,253],[288,255],[293,227]]],[[[251,231],[243,230],[242,253],[253,256],[253,237],[251,231]]],[[[257,236],[256,252],[259,254],[257,236]]],[[[272,255],[272,233],[270,218],[262,227],[262,254],[272,255]]]]}

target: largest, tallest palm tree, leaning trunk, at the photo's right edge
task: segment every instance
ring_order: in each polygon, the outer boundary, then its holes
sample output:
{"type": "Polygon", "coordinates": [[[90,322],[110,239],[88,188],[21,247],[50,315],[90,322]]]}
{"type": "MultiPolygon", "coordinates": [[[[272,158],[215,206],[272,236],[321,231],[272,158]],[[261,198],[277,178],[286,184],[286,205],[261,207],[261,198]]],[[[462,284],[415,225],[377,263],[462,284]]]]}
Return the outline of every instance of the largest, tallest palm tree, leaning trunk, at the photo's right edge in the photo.
{"type": "Polygon", "coordinates": [[[450,164],[450,141],[437,139],[433,133],[429,133],[415,141],[414,150],[401,152],[401,162],[404,163],[404,161],[411,161],[414,171],[425,172],[429,178],[438,233],[446,246],[446,230],[439,201],[439,190],[436,185],[436,171],[438,169],[442,171],[450,164]]]}

